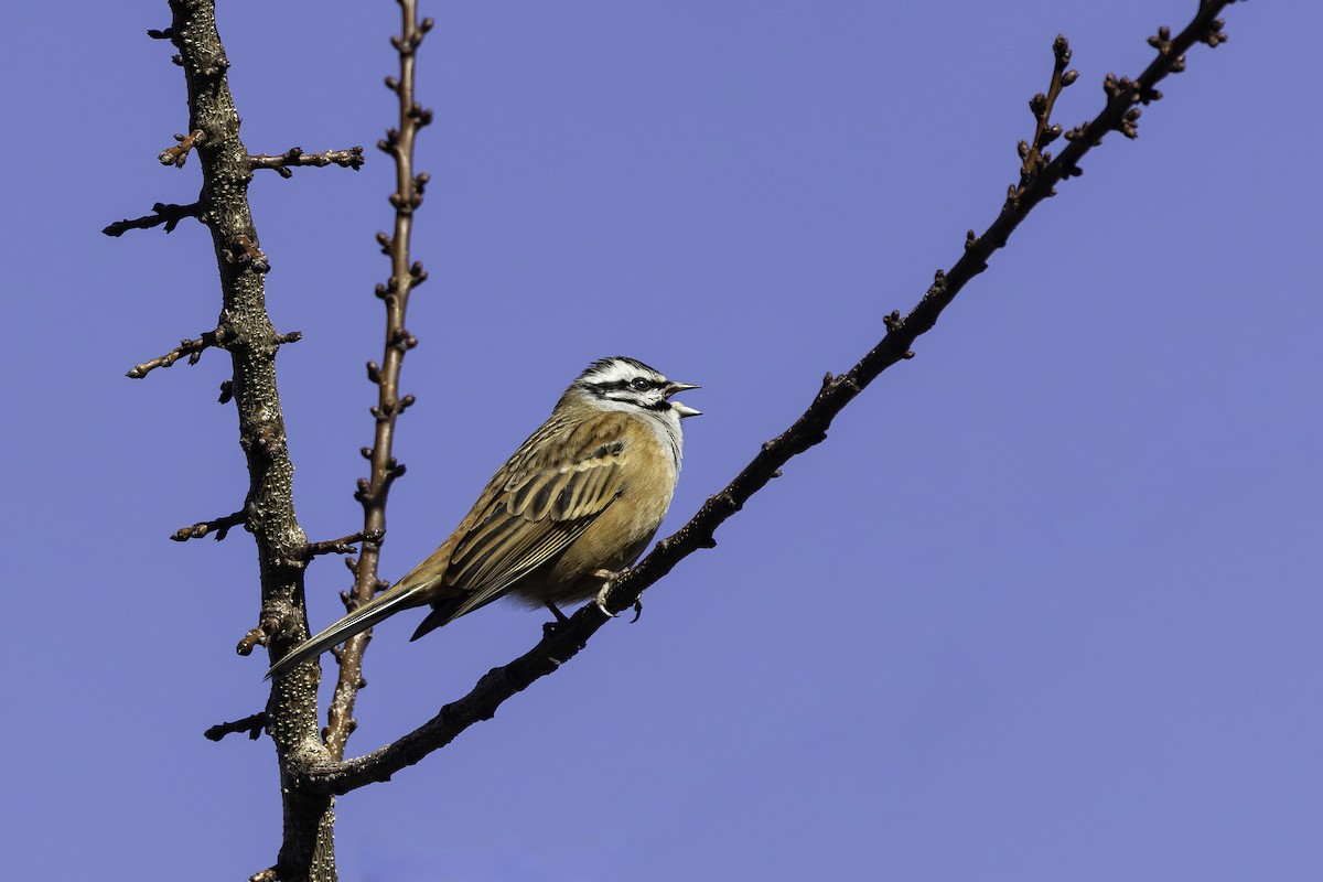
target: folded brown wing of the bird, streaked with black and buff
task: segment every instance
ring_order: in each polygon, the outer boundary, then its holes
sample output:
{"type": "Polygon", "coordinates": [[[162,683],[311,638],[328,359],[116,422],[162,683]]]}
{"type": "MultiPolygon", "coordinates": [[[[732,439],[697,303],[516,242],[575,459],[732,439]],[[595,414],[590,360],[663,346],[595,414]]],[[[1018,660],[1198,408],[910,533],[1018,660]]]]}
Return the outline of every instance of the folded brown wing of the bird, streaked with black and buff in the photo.
{"type": "Polygon", "coordinates": [[[623,489],[628,419],[618,413],[550,423],[501,469],[466,520],[445,581],[467,595],[458,618],[505,594],[564,551],[623,489]]]}

